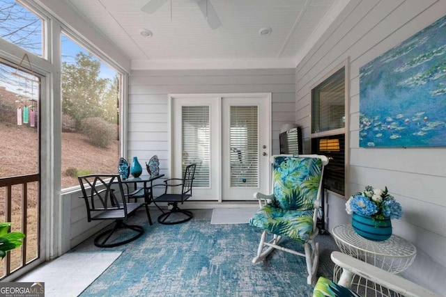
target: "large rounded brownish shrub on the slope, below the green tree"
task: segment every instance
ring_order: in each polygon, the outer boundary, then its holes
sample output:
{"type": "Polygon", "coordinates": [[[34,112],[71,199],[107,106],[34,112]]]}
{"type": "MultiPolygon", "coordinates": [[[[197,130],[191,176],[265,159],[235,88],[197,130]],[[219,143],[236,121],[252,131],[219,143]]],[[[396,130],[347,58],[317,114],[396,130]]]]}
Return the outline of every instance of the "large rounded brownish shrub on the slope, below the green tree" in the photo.
{"type": "Polygon", "coordinates": [[[108,147],[116,139],[116,128],[102,118],[85,118],[81,127],[92,145],[108,147]]]}

